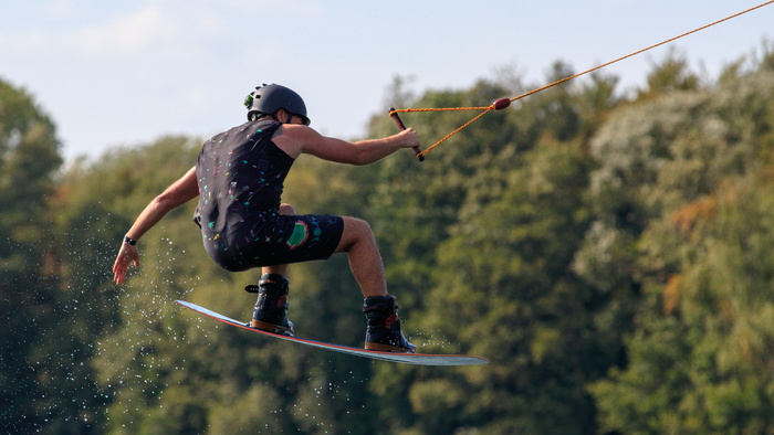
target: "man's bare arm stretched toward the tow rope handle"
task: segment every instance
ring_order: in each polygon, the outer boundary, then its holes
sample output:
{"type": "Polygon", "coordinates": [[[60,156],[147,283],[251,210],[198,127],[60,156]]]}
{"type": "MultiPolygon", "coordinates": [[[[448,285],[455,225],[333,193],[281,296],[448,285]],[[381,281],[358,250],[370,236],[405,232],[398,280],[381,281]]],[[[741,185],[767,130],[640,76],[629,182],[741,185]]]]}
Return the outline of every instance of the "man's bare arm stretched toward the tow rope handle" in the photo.
{"type": "Polygon", "coordinates": [[[408,128],[381,139],[348,142],[322,136],[310,127],[285,124],[273,141],[294,159],[301,153],[310,153],[323,160],[360,166],[381,160],[402,148],[418,147],[419,135],[408,128]]]}

